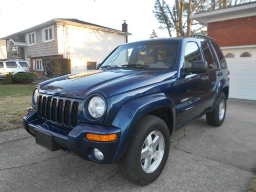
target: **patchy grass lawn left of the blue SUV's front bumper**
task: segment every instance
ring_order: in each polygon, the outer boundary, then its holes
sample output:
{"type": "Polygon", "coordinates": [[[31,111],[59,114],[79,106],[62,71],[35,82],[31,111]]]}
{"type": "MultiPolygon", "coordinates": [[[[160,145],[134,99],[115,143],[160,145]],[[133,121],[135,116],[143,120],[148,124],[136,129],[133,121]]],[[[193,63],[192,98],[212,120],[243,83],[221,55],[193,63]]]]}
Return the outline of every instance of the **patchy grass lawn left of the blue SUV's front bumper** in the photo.
{"type": "Polygon", "coordinates": [[[23,126],[35,84],[0,84],[0,132],[23,126]]]}

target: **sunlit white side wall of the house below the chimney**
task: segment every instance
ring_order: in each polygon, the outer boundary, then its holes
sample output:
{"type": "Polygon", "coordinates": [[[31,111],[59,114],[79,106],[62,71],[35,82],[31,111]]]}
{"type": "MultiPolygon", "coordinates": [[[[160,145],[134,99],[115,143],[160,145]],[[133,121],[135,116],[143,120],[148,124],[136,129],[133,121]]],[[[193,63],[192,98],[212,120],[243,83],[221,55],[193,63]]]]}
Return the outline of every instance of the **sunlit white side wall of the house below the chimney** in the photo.
{"type": "Polygon", "coordinates": [[[78,26],[58,25],[58,54],[71,59],[71,72],[87,70],[88,62],[101,63],[126,36],[78,26]],[[67,31],[67,33],[66,33],[67,31]]]}

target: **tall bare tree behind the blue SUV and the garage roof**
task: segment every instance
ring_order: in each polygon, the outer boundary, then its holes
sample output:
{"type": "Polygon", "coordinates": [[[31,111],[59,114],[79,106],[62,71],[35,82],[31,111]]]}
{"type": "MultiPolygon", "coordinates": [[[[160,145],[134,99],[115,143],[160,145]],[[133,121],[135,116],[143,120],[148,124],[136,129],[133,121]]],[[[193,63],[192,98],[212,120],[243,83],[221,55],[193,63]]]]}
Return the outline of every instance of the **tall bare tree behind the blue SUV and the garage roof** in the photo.
{"type": "Polygon", "coordinates": [[[167,29],[170,37],[172,37],[172,31],[175,31],[178,37],[190,36],[191,33],[203,28],[191,18],[196,12],[221,9],[247,2],[250,0],[175,0],[175,4],[169,6],[165,0],[155,0],[153,13],[160,24],[159,28],[167,29]],[[195,26],[194,29],[192,26],[195,26]]]}

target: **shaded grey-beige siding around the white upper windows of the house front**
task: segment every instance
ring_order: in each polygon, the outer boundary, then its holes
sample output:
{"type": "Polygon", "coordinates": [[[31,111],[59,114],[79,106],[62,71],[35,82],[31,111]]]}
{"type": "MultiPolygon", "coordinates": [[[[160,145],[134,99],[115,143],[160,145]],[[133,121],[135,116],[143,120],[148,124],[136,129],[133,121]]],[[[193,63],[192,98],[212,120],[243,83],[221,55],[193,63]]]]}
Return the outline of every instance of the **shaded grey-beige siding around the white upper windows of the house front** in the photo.
{"type": "MultiPolygon", "coordinates": [[[[44,57],[58,55],[57,27],[54,25],[54,40],[51,42],[42,42],[41,28],[36,30],[36,44],[27,46],[25,49],[27,60],[31,57],[44,57]]],[[[31,31],[33,32],[33,31],[31,31]]]]}

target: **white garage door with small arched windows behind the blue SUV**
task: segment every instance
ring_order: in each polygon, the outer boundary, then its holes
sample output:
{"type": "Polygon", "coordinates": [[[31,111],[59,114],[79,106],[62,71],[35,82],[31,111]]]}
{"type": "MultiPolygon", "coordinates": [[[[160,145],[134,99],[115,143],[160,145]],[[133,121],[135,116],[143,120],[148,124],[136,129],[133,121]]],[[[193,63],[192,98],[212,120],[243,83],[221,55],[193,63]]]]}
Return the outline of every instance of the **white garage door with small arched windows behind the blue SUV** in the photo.
{"type": "Polygon", "coordinates": [[[229,97],[256,100],[256,48],[223,49],[223,53],[230,71],[229,97]]]}

